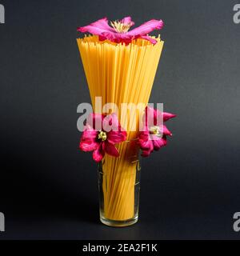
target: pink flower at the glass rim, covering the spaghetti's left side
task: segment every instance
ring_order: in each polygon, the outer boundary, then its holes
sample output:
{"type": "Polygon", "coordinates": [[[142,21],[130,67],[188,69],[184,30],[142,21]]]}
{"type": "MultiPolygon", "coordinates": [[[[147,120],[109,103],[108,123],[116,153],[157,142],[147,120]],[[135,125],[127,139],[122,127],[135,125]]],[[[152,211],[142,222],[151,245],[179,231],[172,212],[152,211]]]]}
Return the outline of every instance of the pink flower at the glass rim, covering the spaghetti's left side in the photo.
{"type": "Polygon", "coordinates": [[[118,157],[115,144],[125,140],[126,131],[120,126],[116,114],[90,114],[79,147],[83,151],[94,151],[94,161],[100,162],[105,153],[118,157]]]}

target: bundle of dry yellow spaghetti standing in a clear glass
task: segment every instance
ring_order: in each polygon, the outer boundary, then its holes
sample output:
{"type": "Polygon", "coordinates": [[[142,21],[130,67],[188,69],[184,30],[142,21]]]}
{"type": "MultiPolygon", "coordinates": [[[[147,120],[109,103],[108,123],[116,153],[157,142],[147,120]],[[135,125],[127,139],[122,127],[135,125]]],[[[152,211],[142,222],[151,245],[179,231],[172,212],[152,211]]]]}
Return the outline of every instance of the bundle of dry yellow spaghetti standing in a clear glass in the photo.
{"type": "MultiPolygon", "coordinates": [[[[155,45],[144,39],[137,39],[128,45],[110,41],[100,42],[98,36],[78,38],[90,98],[95,110],[95,98],[102,97],[102,106],[113,102],[118,106],[118,119],[127,130],[127,141],[118,147],[119,157],[105,155],[102,162],[104,216],[122,221],[134,217],[134,185],[138,166],[139,117],[121,113],[121,104],[143,103],[147,105],[163,42],[158,36],[155,45]]],[[[109,113],[106,113],[109,114],[109,113]]]]}

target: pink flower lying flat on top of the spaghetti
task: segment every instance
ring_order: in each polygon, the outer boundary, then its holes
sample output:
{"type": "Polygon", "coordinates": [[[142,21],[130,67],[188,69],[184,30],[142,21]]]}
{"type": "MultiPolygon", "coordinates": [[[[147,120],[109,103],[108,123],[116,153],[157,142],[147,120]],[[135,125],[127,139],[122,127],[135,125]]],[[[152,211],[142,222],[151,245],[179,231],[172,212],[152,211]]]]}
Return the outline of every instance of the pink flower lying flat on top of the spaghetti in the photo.
{"type": "Polygon", "coordinates": [[[99,36],[100,41],[108,39],[111,42],[125,42],[129,44],[134,39],[142,38],[155,44],[157,40],[151,38],[148,34],[153,30],[161,30],[163,22],[162,19],[151,19],[149,22],[145,22],[141,26],[128,31],[131,26],[134,26],[134,22],[132,22],[130,17],[125,17],[120,21],[110,22],[110,25],[107,18],[102,18],[88,26],[79,27],[78,31],[96,34],[99,36]]]}

